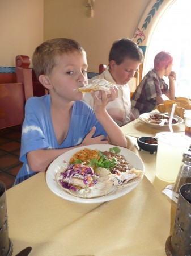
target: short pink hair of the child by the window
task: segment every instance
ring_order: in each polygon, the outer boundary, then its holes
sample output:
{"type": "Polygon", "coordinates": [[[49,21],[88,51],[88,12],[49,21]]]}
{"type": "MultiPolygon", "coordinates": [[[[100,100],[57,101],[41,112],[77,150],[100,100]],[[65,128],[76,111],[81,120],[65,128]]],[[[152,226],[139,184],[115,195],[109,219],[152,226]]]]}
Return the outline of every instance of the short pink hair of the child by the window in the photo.
{"type": "Polygon", "coordinates": [[[168,65],[171,65],[173,61],[173,57],[169,52],[161,51],[159,52],[154,59],[154,69],[156,71],[161,70],[163,68],[167,68],[168,65]]]}

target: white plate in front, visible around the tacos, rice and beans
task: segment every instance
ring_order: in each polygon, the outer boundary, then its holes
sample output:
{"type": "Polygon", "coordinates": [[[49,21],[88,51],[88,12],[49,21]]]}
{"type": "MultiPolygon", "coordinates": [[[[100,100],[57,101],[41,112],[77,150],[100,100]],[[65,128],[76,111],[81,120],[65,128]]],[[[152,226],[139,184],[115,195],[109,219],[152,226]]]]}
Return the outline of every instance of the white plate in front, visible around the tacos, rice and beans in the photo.
{"type": "Polygon", "coordinates": [[[58,184],[55,179],[56,174],[58,170],[63,166],[64,162],[66,164],[69,163],[69,160],[71,156],[79,151],[82,150],[83,148],[90,148],[91,150],[100,150],[100,151],[109,151],[109,148],[114,147],[113,145],[107,144],[107,145],[90,145],[90,146],[83,146],[83,147],[78,147],[74,148],[73,150],[67,151],[66,153],[58,156],[48,167],[48,170],[46,172],[46,184],[48,185],[49,189],[55,193],[57,196],[62,197],[63,199],[77,202],[77,203],[102,203],[105,201],[110,201],[113,199],[116,199],[118,197],[124,196],[126,193],[129,193],[131,190],[133,190],[137,185],[141,182],[144,176],[145,172],[145,167],[142,162],[142,160],[134,153],[128,150],[127,148],[124,147],[119,147],[121,152],[121,155],[124,155],[127,160],[129,160],[130,165],[135,167],[138,170],[142,170],[143,174],[141,178],[137,181],[131,182],[128,185],[125,185],[124,187],[117,188],[113,186],[113,189],[110,193],[108,193],[105,196],[101,197],[96,197],[96,198],[90,198],[90,199],[84,199],[80,197],[75,197],[73,195],[70,195],[67,193],[67,191],[64,191],[58,184]]]}

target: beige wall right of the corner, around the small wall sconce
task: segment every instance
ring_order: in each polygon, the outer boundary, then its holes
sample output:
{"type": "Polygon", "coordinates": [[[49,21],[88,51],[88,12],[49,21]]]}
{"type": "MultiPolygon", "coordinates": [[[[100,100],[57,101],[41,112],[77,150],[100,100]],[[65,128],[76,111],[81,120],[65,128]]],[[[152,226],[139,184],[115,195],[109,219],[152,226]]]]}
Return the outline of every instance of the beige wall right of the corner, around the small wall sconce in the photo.
{"type": "Polygon", "coordinates": [[[150,0],[95,0],[94,18],[87,18],[86,0],[44,0],[44,40],[67,37],[87,52],[89,72],[108,64],[114,40],[133,38],[150,0]]]}

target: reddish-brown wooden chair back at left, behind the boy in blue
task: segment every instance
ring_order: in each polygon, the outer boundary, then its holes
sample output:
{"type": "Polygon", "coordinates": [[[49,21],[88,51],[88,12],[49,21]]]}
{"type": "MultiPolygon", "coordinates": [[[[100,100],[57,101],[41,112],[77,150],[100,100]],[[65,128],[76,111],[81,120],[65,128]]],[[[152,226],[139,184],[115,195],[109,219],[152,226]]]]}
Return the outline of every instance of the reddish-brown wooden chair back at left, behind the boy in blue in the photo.
{"type": "Polygon", "coordinates": [[[33,96],[30,59],[16,56],[15,83],[0,84],[0,129],[20,125],[24,120],[24,105],[33,96]]]}

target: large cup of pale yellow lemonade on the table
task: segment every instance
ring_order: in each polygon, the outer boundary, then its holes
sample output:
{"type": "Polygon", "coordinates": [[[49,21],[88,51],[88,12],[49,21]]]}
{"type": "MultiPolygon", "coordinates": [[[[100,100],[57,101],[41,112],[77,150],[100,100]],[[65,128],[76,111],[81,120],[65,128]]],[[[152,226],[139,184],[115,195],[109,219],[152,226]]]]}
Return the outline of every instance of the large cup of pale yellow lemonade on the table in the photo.
{"type": "Polygon", "coordinates": [[[191,138],[180,133],[157,133],[156,176],[174,183],[182,162],[182,155],[189,150],[191,138]]]}

